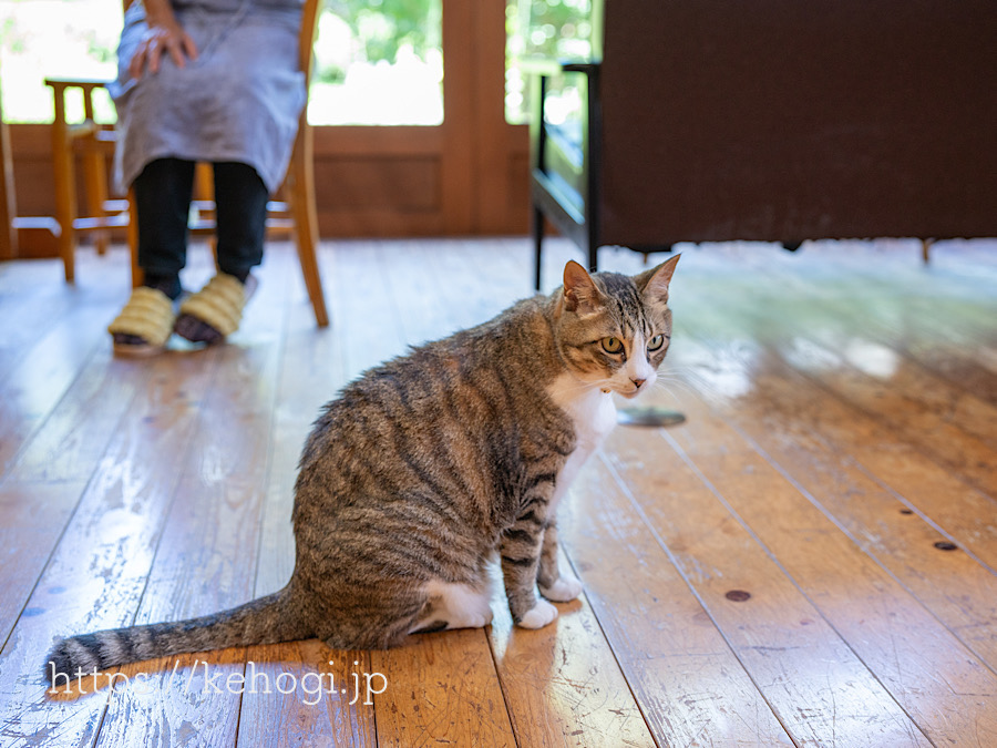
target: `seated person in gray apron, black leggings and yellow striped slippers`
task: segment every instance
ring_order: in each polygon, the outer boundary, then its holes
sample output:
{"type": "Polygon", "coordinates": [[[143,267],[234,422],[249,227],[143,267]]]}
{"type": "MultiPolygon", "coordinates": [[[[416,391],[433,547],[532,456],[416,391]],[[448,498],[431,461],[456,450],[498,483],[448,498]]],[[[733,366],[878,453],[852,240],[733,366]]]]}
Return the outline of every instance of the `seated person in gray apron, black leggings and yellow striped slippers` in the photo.
{"type": "Polygon", "coordinates": [[[136,0],[125,12],[114,177],[135,191],[145,279],[109,327],[116,353],[157,352],[174,331],[213,344],[238,328],[307,96],[301,3],[136,0]],[[214,167],[219,271],[175,310],[198,161],[214,167]]]}

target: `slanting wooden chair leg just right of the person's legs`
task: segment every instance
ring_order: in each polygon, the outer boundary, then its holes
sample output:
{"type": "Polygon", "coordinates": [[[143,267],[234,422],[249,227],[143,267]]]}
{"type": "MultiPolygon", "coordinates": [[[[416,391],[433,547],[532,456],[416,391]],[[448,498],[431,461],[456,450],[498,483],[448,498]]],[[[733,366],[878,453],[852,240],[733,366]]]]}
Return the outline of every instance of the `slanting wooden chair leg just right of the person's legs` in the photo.
{"type": "Polygon", "coordinates": [[[305,287],[315,309],[315,321],[319,327],[329,325],[326,311],[326,297],[322,294],[322,280],[319,276],[318,258],[318,216],[315,209],[315,173],[311,162],[311,129],[306,122],[300,124],[295,152],[291,156],[288,186],[290,187],[291,214],[295,221],[295,244],[298,258],[301,260],[301,274],[305,287]]]}

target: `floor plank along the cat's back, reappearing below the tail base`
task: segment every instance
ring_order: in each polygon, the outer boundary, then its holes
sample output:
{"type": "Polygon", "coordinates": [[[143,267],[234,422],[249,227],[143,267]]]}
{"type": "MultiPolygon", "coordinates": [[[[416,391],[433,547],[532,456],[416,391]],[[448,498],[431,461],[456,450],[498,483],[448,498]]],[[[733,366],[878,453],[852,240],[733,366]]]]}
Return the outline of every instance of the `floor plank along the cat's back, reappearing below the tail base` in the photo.
{"type": "MultiPolygon", "coordinates": [[[[322,275],[329,277],[328,266],[322,268],[322,275]]],[[[296,273],[291,273],[291,298],[300,301],[290,305],[284,335],[270,427],[270,464],[255,581],[257,596],[276,592],[290,578],[295,563],[290,516],[298,457],[319,407],[333,397],[342,382],[339,338],[332,329],[316,330],[304,284],[296,273]]],[[[333,324],[337,314],[333,306],[333,324]]],[[[376,745],[373,706],[364,704],[366,676],[372,674],[368,653],[330,649],[309,641],[250,647],[247,656],[260,672],[270,675],[275,687],[269,693],[250,690],[243,695],[240,745],[271,745],[275,724],[280,725],[279,745],[376,745]],[[277,690],[276,678],[281,673],[292,675],[299,688],[288,694],[277,690]],[[364,686],[359,698],[358,683],[364,686]]],[[[372,689],[379,688],[380,680],[372,677],[372,689]]]]}

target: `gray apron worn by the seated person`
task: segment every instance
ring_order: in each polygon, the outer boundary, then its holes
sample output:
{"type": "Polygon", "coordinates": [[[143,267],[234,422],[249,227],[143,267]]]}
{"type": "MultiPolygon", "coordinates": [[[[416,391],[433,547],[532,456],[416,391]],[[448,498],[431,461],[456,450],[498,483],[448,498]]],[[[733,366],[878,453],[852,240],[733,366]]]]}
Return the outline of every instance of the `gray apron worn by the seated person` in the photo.
{"type": "Polygon", "coordinates": [[[164,55],[156,74],[129,78],[146,31],[145,9],[125,13],[117,50],[119,141],[114,181],[124,192],[145,165],[167,156],[253,166],[274,192],[290,160],[307,100],[298,70],[302,0],[174,0],[197,60],[177,68],[164,55]]]}

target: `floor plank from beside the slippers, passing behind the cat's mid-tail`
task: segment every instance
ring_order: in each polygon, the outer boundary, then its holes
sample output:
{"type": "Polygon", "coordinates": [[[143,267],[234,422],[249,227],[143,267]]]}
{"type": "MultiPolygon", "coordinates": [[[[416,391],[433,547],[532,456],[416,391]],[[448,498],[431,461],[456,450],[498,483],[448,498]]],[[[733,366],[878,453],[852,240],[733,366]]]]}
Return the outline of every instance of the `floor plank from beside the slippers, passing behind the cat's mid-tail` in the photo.
{"type": "MultiPolygon", "coordinates": [[[[230,342],[189,355],[206,362],[204,355],[215,353],[216,370],[188,440],[137,624],[205,615],[253,597],[286,309],[282,260],[278,256],[230,342]]],[[[132,682],[151,673],[156,683],[151,694],[132,683],[115,689],[96,745],[130,745],[136,734],[145,745],[198,745],[205,735],[212,745],[235,745],[245,657],[245,648],[235,648],[125,666],[132,682]]]]}

